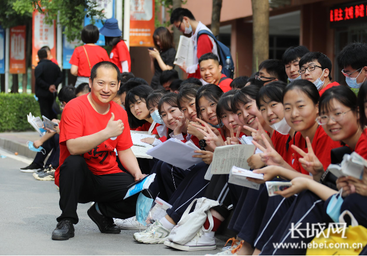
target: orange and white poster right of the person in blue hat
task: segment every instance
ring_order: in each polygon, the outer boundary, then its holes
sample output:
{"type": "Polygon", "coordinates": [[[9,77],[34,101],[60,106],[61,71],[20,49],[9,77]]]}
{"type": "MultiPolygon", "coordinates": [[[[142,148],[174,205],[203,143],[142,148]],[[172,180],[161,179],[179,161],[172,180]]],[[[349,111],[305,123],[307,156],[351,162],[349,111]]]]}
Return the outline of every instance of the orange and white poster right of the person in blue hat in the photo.
{"type": "Polygon", "coordinates": [[[130,46],[154,47],[154,0],[130,0],[130,46]]]}

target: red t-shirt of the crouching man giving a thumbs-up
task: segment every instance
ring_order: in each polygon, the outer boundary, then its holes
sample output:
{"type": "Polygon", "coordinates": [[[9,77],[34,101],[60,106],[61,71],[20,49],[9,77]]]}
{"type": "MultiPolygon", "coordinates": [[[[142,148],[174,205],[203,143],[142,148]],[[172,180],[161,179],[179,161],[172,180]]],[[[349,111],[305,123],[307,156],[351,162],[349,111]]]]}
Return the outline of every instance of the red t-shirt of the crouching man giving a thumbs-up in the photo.
{"type": "Polygon", "coordinates": [[[115,120],[122,120],[125,129],[116,139],[108,139],[83,155],[89,170],[94,175],[122,172],[117,165],[114,150],[126,150],[133,146],[126,111],[117,103],[110,102],[109,112],[101,115],[93,109],[87,96],[88,94],[71,100],[63,110],[60,122],[60,166],[55,172],[55,184],[58,186],[60,167],[70,155],[66,141],[102,131],[111,119],[111,113],[115,114],[115,120]]]}

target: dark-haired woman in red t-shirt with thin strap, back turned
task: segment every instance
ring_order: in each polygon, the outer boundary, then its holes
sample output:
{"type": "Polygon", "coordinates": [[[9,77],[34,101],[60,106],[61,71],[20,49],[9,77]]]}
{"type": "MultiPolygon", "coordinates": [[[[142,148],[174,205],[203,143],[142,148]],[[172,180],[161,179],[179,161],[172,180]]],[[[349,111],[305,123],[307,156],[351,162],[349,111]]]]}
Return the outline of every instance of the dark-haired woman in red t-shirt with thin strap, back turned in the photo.
{"type": "Polygon", "coordinates": [[[95,44],[98,39],[99,30],[95,25],[89,24],[82,29],[85,45],[76,47],[69,61],[71,75],[77,76],[75,87],[89,83],[90,72],[96,63],[110,61],[107,51],[95,44]]]}

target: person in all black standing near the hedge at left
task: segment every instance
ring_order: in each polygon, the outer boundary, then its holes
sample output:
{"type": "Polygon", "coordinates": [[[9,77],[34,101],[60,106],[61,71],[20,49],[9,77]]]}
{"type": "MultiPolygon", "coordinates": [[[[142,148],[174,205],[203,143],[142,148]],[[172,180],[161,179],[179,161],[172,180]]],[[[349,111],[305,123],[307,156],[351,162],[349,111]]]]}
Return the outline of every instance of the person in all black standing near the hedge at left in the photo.
{"type": "Polygon", "coordinates": [[[63,74],[54,62],[47,59],[45,49],[38,51],[39,62],[35,69],[36,96],[41,109],[41,115],[48,119],[57,119],[52,106],[57,94],[58,85],[62,82],[63,74]]]}

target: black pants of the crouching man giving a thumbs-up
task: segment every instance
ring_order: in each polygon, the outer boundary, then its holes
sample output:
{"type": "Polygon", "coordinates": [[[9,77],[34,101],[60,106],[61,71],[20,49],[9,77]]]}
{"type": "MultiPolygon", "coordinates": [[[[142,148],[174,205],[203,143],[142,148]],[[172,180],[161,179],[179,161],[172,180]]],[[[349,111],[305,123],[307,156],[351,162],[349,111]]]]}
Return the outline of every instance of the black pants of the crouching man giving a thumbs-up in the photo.
{"type": "Polygon", "coordinates": [[[76,224],[77,204],[98,203],[104,216],[126,219],[135,216],[139,194],[123,200],[127,186],[135,179],[127,173],[94,175],[83,156],[70,155],[60,168],[60,209],[57,221],[71,220],[76,224]]]}

